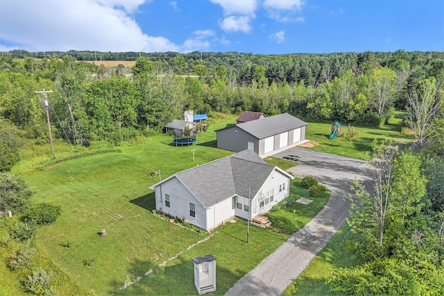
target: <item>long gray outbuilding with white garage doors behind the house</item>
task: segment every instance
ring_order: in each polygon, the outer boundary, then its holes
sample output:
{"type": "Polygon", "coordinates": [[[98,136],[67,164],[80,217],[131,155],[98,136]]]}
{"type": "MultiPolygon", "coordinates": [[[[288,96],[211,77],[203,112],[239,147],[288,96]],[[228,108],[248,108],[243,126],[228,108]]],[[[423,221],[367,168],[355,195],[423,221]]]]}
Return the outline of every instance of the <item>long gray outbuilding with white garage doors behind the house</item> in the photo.
{"type": "Polygon", "coordinates": [[[306,126],[307,122],[288,113],[242,122],[217,130],[217,147],[236,152],[251,149],[265,157],[305,142],[306,126]]]}

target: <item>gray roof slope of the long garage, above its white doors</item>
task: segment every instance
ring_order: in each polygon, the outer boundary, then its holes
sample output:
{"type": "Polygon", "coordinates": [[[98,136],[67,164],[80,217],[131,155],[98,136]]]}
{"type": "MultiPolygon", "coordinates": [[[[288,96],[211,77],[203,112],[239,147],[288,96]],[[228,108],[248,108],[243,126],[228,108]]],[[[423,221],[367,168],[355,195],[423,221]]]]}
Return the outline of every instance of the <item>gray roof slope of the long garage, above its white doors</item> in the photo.
{"type": "Polygon", "coordinates": [[[270,137],[271,135],[277,135],[278,133],[284,133],[285,131],[291,131],[292,129],[298,129],[301,126],[306,125],[307,122],[303,122],[299,118],[289,115],[288,113],[265,117],[262,120],[253,120],[236,124],[240,129],[254,135],[259,140],[270,137]]]}

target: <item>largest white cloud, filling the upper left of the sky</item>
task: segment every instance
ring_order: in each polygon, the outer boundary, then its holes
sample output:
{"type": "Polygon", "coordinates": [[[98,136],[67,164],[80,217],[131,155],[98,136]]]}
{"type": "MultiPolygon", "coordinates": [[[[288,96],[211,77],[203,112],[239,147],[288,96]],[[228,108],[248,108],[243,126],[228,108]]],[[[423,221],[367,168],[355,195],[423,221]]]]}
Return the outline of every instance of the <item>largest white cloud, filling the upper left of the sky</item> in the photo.
{"type": "Polygon", "coordinates": [[[144,0],[15,0],[2,3],[0,40],[28,51],[178,51],[133,19],[144,0]]]}

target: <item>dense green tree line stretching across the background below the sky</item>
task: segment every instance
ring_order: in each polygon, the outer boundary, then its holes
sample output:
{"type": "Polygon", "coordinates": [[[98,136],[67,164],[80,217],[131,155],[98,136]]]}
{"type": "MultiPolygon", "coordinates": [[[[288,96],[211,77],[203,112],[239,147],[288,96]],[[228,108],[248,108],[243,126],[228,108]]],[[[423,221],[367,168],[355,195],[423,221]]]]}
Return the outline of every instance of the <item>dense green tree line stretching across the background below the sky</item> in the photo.
{"type": "Polygon", "coordinates": [[[405,124],[418,131],[420,147],[441,115],[443,53],[167,52],[139,54],[133,67],[104,67],[74,55],[85,53],[94,51],[69,51],[62,59],[10,51],[0,58],[0,116],[10,126],[8,134],[17,128],[27,138],[48,138],[42,95],[35,94],[43,88],[53,90],[48,108],[54,135],[83,146],[159,133],[188,109],[210,117],[253,110],[379,126],[395,108],[407,108],[405,124]],[[431,116],[418,123],[423,112],[431,116]]]}

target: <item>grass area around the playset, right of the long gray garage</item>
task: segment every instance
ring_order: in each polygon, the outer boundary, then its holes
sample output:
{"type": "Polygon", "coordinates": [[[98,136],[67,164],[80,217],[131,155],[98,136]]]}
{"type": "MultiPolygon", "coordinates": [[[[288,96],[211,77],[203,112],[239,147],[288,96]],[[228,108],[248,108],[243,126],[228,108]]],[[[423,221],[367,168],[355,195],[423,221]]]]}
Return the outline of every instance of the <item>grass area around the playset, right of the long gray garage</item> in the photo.
{"type": "Polygon", "coordinates": [[[356,140],[352,141],[351,145],[345,137],[348,126],[341,126],[341,133],[344,133],[343,137],[336,135],[333,140],[330,140],[332,124],[309,122],[305,138],[316,141],[320,145],[315,145],[308,149],[364,159],[364,155],[372,151],[371,145],[375,139],[378,139],[380,142],[386,137],[387,140],[391,142],[400,142],[402,144],[411,143],[413,142],[412,136],[401,133],[400,121],[402,120],[402,114],[403,113],[399,111],[396,112],[395,117],[381,128],[355,126],[359,136],[356,140]]]}

